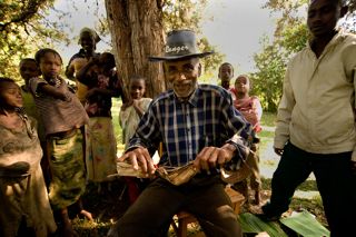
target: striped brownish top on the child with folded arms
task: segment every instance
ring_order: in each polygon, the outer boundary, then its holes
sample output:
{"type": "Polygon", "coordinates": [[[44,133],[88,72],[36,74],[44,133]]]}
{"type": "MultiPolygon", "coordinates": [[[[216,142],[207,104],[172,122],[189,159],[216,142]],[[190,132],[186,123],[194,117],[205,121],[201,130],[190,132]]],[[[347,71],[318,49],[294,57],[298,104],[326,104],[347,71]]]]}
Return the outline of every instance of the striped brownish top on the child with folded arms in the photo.
{"type": "MultiPolygon", "coordinates": [[[[34,102],[43,122],[46,135],[69,131],[88,124],[87,112],[76,95],[69,91],[68,87],[66,87],[68,90],[67,96],[71,99],[70,101],[63,101],[38,92],[39,86],[43,83],[49,82],[42,78],[32,78],[30,79],[29,88],[34,95],[34,102]]],[[[52,83],[55,87],[59,87],[66,81],[58,77],[52,83]]]]}

